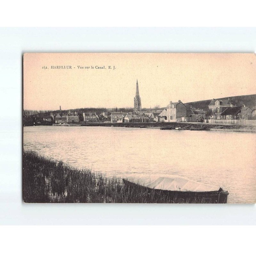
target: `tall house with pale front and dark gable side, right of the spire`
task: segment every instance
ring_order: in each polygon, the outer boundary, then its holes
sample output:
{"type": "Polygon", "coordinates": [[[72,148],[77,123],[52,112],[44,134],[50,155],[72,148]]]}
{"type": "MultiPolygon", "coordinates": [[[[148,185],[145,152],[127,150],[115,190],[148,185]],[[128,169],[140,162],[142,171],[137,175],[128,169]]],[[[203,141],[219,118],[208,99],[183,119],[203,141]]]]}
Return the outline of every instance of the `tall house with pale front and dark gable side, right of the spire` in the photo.
{"type": "Polygon", "coordinates": [[[172,102],[168,105],[166,122],[185,122],[187,107],[180,101],[172,102]]]}

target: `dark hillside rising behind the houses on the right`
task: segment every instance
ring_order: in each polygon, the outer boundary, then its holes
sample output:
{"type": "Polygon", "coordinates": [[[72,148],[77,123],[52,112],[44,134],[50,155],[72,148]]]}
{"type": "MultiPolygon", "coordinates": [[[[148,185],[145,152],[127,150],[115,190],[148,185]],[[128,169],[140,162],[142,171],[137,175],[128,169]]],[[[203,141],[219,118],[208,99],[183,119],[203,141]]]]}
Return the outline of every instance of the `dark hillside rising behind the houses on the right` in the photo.
{"type": "MultiPolygon", "coordinates": [[[[228,99],[231,98],[233,100],[233,103],[236,104],[236,106],[249,106],[250,108],[256,107],[256,94],[250,94],[250,95],[241,95],[241,96],[233,96],[233,97],[224,97],[224,98],[218,98],[219,100],[228,99]]],[[[217,99],[217,98],[216,98],[217,99]]],[[[194,102],[187,102],[184,103],[187,107],[192,106],[192,108],[199,108],[203,110],[208,109],[208,105],[210,104],[212,99],[210,100],[199,100],[194,102]]]]}

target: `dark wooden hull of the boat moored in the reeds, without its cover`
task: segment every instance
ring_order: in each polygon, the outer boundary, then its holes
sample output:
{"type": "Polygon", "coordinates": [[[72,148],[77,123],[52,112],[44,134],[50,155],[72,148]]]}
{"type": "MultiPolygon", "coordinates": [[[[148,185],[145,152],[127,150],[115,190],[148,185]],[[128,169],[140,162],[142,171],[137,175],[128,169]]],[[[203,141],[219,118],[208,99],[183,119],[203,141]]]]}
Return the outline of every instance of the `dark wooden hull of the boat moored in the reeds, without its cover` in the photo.
{"type": "Polygon", "coordinates": [[[164,198],[166,203],[187,203],[187,204],[226,204],[228,199],[228,191],[220,188],[218,191],[192,192],[192,191],[170,191],[162,189],[154,189],[135,184],[123,179],[124,188],[129,191],[139,190],[140,192],[151,194],[158,198],[164,198]]]}

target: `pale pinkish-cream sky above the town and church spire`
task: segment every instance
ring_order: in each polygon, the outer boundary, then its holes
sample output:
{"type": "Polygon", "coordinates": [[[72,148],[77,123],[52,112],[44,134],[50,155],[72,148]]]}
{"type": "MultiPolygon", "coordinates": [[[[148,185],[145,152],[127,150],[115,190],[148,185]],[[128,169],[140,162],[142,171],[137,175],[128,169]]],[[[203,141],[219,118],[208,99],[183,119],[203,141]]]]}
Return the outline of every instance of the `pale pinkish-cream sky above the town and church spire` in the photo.
{"type": "Polygon", "coordinates": [[[256,57],[254,53],[25,53],[23,79],[24,109],[133,108],[137,79],[142,108],[165,107],[170,100],[186,103],[255,94],[256,57]]]}

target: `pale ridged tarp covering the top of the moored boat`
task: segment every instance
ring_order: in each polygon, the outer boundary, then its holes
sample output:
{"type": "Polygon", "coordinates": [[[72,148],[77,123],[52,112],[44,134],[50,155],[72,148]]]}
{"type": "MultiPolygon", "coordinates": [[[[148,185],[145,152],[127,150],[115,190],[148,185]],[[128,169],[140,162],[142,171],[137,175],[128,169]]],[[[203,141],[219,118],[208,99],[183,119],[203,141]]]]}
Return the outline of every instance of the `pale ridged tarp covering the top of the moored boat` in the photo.
{"type": "Polygon", "coordinates": [[[191,191],[207,192],[218,191],[220,187],[208,185],[194,180],[189,180],[180,176],[159,177],[159,176],[131,176],[126,177],[132,183],[154,189],[171,190],[171,191],[191,191]]]}

